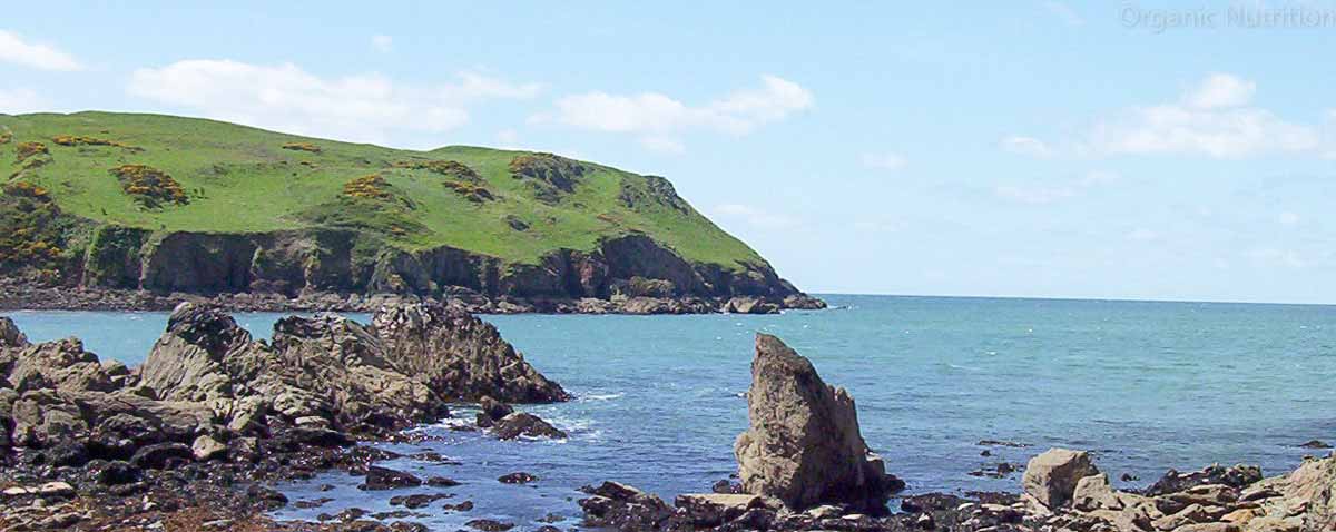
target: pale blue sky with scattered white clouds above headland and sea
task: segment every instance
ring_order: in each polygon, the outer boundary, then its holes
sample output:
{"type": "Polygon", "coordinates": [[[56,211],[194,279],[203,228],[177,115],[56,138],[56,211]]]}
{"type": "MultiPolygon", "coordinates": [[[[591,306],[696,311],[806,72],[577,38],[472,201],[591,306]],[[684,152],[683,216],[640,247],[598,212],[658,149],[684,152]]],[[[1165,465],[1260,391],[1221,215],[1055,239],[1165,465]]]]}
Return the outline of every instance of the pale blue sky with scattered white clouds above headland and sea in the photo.
{"type": "Polygon", "coordinates": [[[7,7],[0,112],[663,175],[814,293],[1336,303],[1336,3],[115,4],[7,7]]]}

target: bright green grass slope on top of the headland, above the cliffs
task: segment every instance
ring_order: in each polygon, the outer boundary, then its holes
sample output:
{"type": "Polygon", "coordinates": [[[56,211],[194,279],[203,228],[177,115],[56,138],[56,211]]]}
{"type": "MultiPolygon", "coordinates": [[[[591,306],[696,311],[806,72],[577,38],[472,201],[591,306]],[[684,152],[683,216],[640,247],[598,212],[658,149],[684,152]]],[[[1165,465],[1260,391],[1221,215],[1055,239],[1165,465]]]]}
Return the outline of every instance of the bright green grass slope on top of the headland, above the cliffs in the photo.
{"type": "Polygon", "coordinates": [[[604,237],[640,231],[688,261],[727,269],[764,263],[685,202],[620,199],[625,190],[661,191],[655,178],[581,163],[587,171],[572,191],[544,199],[537,186],[544,183],[514,178],[509,168],[525,154],[391,150],[163,115],[0,115],[0,179],[44,187],[61,211],[95,222],[198,233],[355,227],[402,249],[446,245],[514,263],[536,263],[557,249],[588,251],[604,237]],[[29,143],[43,143],[47,155],[20,160],[29,143]],[[456,179],[403,167],[432,160],[468,166],[481,178],[473,186],[494,199],[470,201],[446,186],[456,179]],[[126,164],[167,174],[186,203],[136,199],[112,172],[126,164]],[[347,194],[350,180],[373,174],[387,198],[347,194]]]}

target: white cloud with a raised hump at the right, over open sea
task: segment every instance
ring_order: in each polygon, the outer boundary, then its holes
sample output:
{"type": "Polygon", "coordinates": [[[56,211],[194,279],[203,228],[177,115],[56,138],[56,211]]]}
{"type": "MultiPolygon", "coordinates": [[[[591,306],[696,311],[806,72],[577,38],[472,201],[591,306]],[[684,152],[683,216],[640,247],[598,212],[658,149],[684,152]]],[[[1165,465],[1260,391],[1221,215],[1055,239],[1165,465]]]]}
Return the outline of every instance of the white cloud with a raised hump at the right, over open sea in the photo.
{"type": "Polygon", "coordinates": [[[1102,120],[1088,148],[1114,155],[1205,155],[1241,159],[1272,154],[1320,152],[1321,135],[1272,111],[1249,107],[1253,82],[1214,74],[1178,103],[1133,107],[1102,120]]]}

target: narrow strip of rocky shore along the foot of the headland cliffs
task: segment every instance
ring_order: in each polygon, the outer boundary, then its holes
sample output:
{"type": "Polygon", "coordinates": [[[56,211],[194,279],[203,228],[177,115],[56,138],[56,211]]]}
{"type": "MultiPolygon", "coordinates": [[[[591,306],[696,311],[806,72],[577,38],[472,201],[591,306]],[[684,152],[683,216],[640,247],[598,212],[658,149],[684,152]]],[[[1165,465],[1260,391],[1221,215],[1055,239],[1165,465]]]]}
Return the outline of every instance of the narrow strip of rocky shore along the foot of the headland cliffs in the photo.
{"type": "Polygon", "coordinates": [[[88,286],[43,286],[29,281],[0,278],[0,310],[124,310],[168,311],[182,302],[211,303],[230,311],[345,311],[374,313],[386,305],[444,303],[472,314],[778,314],[782,310],[818,310],[826,302],[807,295],[783,298],[737,295],[703,297],[621,297],[603,298],[516,298],[486,297],[460,290],[441,298],[411,294],[358,294],[303,291],[285,295],[242,291],[200,295],[151,290],[88,286]]]}

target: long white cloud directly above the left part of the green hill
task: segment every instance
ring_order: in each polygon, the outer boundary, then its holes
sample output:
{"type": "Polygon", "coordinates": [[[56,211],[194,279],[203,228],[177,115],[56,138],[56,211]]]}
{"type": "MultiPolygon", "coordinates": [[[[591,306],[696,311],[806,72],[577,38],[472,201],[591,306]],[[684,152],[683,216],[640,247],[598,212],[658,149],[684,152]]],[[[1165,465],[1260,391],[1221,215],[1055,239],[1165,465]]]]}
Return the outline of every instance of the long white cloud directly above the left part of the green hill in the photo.
{"type": "Polygon", "coordinates": [[[140,68],[127,90],[208,118],[341,140],[385,142],[391,131],[453,130],[468,122],[469,103],[532,98],[538,86],[509,84],[474,72],[460,74],[457,83],[410,86],[378,74],[321,78],[294,64],[195,59],[140,68]]]}

